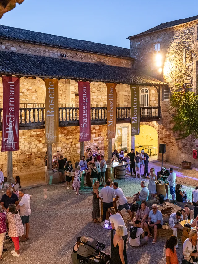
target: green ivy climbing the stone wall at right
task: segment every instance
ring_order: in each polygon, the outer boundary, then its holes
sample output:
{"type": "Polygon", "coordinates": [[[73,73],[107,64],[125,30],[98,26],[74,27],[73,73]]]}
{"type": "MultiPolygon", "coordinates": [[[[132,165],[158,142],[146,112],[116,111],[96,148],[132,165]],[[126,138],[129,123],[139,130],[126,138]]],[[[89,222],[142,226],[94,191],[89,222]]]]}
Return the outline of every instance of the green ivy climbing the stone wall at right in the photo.
{"type": "Polygon", "coordinates": [[[176,84],[170,98],[171,106],[176,109],[173,116],[173,131],[178,133],[177,139],[183,139],[189,135],[198,138],[198,95],[190,92],[190,87],[184,87],[183,83],[176,84]],[[182,90],[181,90],[182,89],[182,90]]]}

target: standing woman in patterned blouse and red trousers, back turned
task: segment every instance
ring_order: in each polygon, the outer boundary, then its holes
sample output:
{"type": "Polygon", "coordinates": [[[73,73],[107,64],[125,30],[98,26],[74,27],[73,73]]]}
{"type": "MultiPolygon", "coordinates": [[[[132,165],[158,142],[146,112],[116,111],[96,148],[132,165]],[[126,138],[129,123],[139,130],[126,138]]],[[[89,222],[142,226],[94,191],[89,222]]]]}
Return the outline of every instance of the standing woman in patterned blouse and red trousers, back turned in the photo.
{"type": "Polygon", "coordinates": [[[7,211],[7,222],[9,226],[8,236],[11,237],[15,246],[15,249],[12,250],[11,253],[14,257],[20,257],[19,236],[24,235],[24,226],[14,204],[9,204],[7,211]]]}

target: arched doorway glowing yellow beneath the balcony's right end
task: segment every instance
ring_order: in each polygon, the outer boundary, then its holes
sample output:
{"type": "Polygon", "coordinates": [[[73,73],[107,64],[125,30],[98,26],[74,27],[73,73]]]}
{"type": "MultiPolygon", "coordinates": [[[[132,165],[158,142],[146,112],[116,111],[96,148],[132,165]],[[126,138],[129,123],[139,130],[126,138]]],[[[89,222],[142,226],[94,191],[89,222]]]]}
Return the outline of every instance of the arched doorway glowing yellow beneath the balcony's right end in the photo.
{"type": "MultiPolygon", "coordinates": [[[[158,133],[155,130],[154,127],[149,125],[140,125],[140,134],[135,136],[135,146],[149,146],[149,149],[151,150],[151,157],[153,159],[157,159],[157,153],[158,153],[158,133]],[[156,149],[153,149],[153,147],[156,147],[156,149]],[[154,154],[156,153],[156,156],[154,154]]],[[[147,149],[148,147],[144,147],[144,150],[150,155],[150,150],[147,149]]],[[[141,151],[142,148],[140,148],[141,151]]],[[[136,147],[135,150],[138,151],[138,148],[136,147]]]]}

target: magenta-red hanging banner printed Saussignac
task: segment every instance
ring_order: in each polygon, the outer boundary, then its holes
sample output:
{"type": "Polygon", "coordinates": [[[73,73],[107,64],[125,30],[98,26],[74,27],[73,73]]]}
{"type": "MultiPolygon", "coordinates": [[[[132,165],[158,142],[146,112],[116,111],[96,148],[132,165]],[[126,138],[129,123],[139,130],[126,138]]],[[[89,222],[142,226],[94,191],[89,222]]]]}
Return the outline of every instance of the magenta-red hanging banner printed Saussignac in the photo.
{"type": "Polygon", "coordinates": [[[90,83],[78,82],[79,97],[79,142],[91,140],[90,83]]]}

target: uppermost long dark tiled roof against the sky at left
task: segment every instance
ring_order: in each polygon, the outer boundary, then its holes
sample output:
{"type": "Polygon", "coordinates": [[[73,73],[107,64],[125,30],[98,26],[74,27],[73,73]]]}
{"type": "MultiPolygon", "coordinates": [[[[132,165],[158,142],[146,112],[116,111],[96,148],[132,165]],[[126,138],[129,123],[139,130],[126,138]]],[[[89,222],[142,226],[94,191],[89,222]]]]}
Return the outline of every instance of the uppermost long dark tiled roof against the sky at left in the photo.
{"type": "Polygon", "coordinates": [[[74,49],[112,55],[116,57],[130,58],[130,49],[95,43],[91,41],[76,40],[21,28],[12,28],[3,25],[0,25],[0,37],[9,38],[12,40],[28,41],[37,44],[52,45],[65,49],[74,49]]]}

